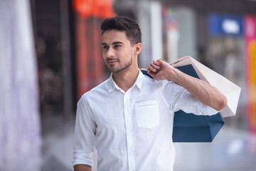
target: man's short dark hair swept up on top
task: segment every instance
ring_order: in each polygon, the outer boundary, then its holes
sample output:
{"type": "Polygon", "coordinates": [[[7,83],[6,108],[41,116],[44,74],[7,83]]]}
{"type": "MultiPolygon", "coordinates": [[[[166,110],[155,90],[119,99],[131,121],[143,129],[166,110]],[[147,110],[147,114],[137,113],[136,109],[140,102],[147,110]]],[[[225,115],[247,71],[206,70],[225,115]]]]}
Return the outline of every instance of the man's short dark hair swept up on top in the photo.
{"type": "Polygon", "coordinates": [[[142,31],[139,28],[139,24],[133,19],[129,19],[125,16],[115,16],[107,18],[102,22],[100,26],[102,34],[107,30],[119,30],[125,31],[125,35],[133,46],[136,43],[142,43],[142,31]]]}

